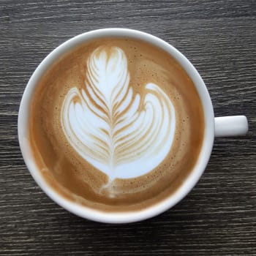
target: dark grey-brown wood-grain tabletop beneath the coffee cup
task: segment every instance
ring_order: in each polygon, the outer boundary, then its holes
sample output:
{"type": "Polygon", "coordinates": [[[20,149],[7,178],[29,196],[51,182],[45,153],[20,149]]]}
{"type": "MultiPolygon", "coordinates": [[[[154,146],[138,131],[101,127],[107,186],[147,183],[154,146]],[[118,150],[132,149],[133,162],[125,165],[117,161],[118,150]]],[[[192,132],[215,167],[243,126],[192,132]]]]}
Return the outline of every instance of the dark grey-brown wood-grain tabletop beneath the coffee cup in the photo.
{"type": "Polygon", "coordinates": [[[0,255],[256,255],[256,1],[0,1],[0,255]],[[40,61],[70,37],[126,27],[181,50],[216,116],[244,114],[244,138],[218,138],[206,172],[173,209],[129,225],[70,214],[31,178],[17,118],[40,61]]]}

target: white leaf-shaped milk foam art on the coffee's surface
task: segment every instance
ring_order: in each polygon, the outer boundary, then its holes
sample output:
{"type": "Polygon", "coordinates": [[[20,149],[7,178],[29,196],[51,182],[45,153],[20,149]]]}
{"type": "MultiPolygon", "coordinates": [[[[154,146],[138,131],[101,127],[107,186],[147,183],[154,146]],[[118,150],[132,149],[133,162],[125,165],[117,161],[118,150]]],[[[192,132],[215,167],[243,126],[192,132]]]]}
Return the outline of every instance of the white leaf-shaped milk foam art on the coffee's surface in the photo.
{"type": "Polygon", "coordinates": [[[101,46],[86,63],[82,89],[70,89],[61,108],[61,127],[70,146],[114,178],[135,178],[165,159],[176,117],[164,91],[147,83],[135,94],[121,48],[101,46]]]}

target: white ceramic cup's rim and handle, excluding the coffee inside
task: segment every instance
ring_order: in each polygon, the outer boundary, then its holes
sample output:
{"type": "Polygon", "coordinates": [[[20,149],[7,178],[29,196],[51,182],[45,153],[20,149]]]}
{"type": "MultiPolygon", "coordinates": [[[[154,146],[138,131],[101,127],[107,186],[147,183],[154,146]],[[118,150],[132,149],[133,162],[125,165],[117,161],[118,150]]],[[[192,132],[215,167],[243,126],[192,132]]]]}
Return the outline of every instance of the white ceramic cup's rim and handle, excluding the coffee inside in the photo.
{"type": "Polygon", "coordinates": [[[99,29],[90,31],[84,34],[80,34],[77,37],[69,39],[64,42],[58,48],[53,50],[42,62],[39,64],[34,74],[31,76],[29,83],[23,94],[23,98],[20,102],[20,110],[18,115],[18,138],[20,143],[20,149],[23,154],[23,159],[26,162],[27,167],[34,180],[37,182],[39,187],[59,206],[67,209],[68,211],[86,219],[91,219],[97,222],[108,222],[108,223],[126,223],[126,222],[138,222],[143,219],[154,217],[157,214],[161,214],[167,209],[173,207],[182,200],[190,190],[195,186],[203,171],[206,168],[208,159],[211,155],[211,149],[214,143],[214,137],[222,136],[236,136],[245,135],[248,130],[248,123],[245,116],[225,116],[214,118],[214,109],[211,103],[211,98],[206,89],[205,83],[198,74],[195,67],[189,62],[189,60],[176,48],[169,45],[167,42],[154,37],[150,34],[146,34],[141,31],[135,31],[131,29],[99,29]],[[31,152],[31,146],[29,143],[29,107],[31,105],[31,99],[33,97],[35,88],[42,78],[42,75],[48,70],[51,64],[56,59],[63,56],[70,49],[83,42],[91,39],[97,39],[100,37],[132,37],[140,39],[146,42],[150,42],[156,45],[158,48],[162,48],[166,53],[173,56],[181,66],[187,71],[189,77],[195,83],[195,87],[200,95],[200,99],[203,105],[204,118],[205,118],[205,132],[203,138],[203,146],[200,151],[200,155],[197,159],[197,163],[187,179],[181,184],[180,187],[167,199],[159,201],[154,206],[150,206],[141,211],[130,211],[130,212],[102,212],[88,208],[86,206],[78,205],[75,202],[69,201],[67,198],[59,195],[49,184],[44,180],[42,175],[35,164],[33,154],[31,152]]]}

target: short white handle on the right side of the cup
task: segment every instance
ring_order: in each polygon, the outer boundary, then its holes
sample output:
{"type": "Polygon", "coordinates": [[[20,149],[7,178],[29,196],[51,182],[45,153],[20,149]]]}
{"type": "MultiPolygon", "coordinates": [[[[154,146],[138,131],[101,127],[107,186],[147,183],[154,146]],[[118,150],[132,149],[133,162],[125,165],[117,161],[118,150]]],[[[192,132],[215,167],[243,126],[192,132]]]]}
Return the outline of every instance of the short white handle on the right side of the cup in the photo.
{"type": "Polygon", "coordinates": [[[246,116],[222,116],[214,118],[215,137],[246,135],[248,121],[246,116]]]}

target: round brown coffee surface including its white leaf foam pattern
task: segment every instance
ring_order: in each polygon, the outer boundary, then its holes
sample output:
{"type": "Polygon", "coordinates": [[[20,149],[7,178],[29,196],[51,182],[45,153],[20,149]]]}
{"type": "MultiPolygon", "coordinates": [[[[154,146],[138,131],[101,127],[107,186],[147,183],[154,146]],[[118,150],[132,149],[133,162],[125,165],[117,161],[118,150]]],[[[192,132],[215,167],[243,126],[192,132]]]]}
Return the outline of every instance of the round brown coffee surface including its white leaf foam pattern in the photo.
{"type": "Polygon", "coordinates": [[[85,42],[54,63],[31,104],[42,176],[69,200],[140,210],[170,196],[197,162],[203,108],[178,62],[138,39],[85,42]]]}

